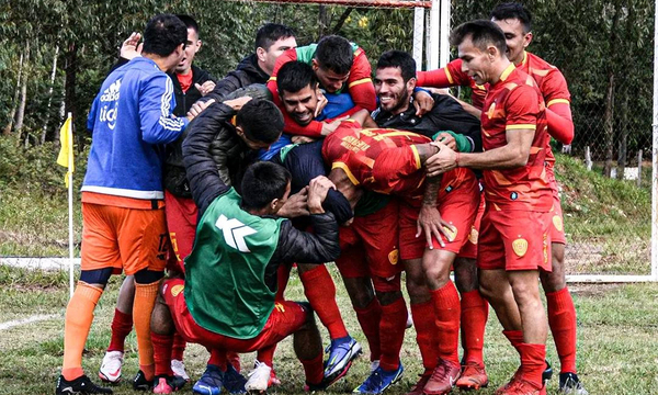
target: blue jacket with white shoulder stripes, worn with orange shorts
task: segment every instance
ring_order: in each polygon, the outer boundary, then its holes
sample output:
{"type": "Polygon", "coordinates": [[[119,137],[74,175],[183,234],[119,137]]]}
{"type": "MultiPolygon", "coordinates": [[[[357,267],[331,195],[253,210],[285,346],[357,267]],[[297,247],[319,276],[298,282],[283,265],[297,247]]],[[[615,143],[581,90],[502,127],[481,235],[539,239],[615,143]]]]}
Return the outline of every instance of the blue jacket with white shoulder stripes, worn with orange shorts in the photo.
{"type": "Polygon", "coordinates": [[[154,60],[136,57],[112,71],[87,120],[92,142],[82,191],[163,199],[163,145],[188,125],[174,108],[171,79],[154,60]]]}

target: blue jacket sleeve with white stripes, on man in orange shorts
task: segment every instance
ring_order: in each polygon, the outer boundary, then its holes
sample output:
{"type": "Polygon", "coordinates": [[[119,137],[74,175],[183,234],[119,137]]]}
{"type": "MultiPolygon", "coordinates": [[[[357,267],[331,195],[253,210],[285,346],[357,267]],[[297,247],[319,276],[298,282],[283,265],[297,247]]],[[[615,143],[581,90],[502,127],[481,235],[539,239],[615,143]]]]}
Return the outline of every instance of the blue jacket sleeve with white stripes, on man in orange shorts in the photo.
{"type": "Polygon", "coordinates": [[[141,138],[148,144],[174,142],[190,121],[172,114],[175,108],[173,84],[169,76],[157,74],[141,88],[139,94],[139,120],[141,138]]]}

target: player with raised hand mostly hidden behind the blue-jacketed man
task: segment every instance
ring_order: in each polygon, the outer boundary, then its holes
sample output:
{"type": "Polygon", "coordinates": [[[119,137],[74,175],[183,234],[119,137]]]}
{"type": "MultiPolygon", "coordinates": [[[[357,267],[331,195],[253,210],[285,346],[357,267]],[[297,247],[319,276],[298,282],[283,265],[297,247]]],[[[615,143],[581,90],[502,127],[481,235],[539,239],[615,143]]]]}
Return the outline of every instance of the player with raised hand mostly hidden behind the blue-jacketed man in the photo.
{"type": "MultiPolygon", "coordinates": [[[[188,43],[183,59],[177,65],[174,72],[169,74],[169,77],[173,83],[173,93],[175,97],[173,114],[175,116],[185,116],[197,99],[213,90],[215,79],[207,71],[193,65],[194,57],[202,45],[198,35],[198,24],[190,15],[177,16],[188,27],[188,43]]],[[[139,33],[133,33],[123,43],[121,58],[114,66],[115,68],[125,65],[134,57],[140,56],[140,50],[137,50],[140,38],[141,35],[139,33]]],[[[182,267],[182,259],[192,249],[195,232],[194,225],[196,223],[196,206],[189,193],[189,187],[184,178],[185,170],[182,167],[181,143],[182,140],[179,139],[168,146],[163,173],[164,213],[173,247],[173,251],[170,255],[177,261],[173,263],[177,270],[181,270],[178,267],[182,267]],[[189,215],[185,215],[186,213],[189,215]]],[[[168,264],[170,263],[168,262],[168,264]]],[[[120,290],[116,309],[112,319],[112,338],[99,370],[99,376],[105,382],[116,383],[121,380],[125,338],[133,330],[134,297],[134,279],[128,275],[120,290]]],[[[184,349],[185,342],[180,337],[177,337],[171,363],[175,375],[188,381],[190,376],[185,372],[183,364],[184,349]]]]}

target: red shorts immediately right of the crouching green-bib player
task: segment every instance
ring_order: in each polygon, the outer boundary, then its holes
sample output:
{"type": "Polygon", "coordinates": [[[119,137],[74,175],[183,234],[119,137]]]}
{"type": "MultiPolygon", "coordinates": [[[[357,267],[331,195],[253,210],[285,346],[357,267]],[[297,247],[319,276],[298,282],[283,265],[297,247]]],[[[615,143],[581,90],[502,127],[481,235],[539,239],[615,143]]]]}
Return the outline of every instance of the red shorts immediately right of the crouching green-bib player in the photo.
{"type": "Polygon", "coordinates": [[[340,257],[336,266],[344,278],[377,275],[392,278],[402,271],[398,264],[398,202],[392,199],[379,211],[354,217],[341,227],[340,257]]]}

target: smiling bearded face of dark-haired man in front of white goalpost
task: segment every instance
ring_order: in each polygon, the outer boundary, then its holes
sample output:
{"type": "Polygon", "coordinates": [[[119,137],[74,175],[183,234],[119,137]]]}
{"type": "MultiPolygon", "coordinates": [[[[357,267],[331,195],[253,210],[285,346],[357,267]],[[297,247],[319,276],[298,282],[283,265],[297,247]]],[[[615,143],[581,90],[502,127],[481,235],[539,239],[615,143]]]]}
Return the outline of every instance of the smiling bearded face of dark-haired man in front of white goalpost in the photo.
{"type": "Polygon", "coordinates": [[[375,71],[375,92],[382,110],[399,114],[409,108],[409,98],[416,87],[416,78],[405,83],[399,67],[379,68],[375,71]]]}

